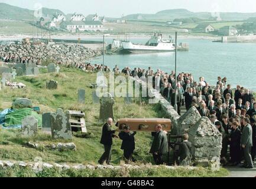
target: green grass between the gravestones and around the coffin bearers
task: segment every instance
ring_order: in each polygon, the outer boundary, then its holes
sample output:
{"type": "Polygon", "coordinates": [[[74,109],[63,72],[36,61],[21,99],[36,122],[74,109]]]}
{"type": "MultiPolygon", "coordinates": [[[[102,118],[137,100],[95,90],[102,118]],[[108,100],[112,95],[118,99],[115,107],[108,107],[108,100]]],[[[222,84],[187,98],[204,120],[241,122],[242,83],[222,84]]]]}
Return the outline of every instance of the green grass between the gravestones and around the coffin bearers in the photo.
{"type": "MultiPolygon", "coordinates": [[[[34,106],[40,106],[42,112],[55,112],[58,107],[64,110],[81,109],[86,113],[86,125],[89,132],[94,134],[94,138],[83,139],[74,138],[73,141],[77,145],[76,152],[53,152],[39,151],[30,148],[21,148],[25,142],[31,139],[17,137],[16,131],[1,131],[0,132],[0,159],[14,159],[22,161],[33,161],[35,157],[42,157],[44,161],[51,162],[94,162],[99,159],[103,152],[102,145],[99,144],[101,137],[101,126],[97,126],[99,118],[99,105],[92,105],[92,89],[88,87],[89,83],[95,83],[96,74],[85,73],[75,69],[63,69],[60,74],[45,73],[38,77],[17,77],[18,82],[27,85],[26,89],[8,89],[0,91],[1,108],[11,106],[12,100],[16,97],[27,97],[33,100],[34,106]],[[47,80],[54,79],[59,82],[57,90],[45,89],[47,80]],[[86,89],[86,104],[77,104],[77,89],[86,89]],[[5,145],[8,144],[8,145],[5,145]]],[[[159,117],[153,105],[126,105],[124,99],[116,98],[114,105],[115,119],[118,118],[154,118],[159,117]]],[[[151,161],[151,155],[148,155],[150,149],[151,135],[150,133],[138,133],[137,149],[135,155],[137,159],[151,161]],[[146,147],[145,147],[146,146],[146,147]]],[[[32,141],[40,141],[40,144],[48,142],[59,142],[52,140],[47,135],[41,134],[32,141]]],[[[114,163],[119,163],[119,158],[122,157],[122,151],[119,149],[121,141],[116,140],[113,150],[114,163]]]]}

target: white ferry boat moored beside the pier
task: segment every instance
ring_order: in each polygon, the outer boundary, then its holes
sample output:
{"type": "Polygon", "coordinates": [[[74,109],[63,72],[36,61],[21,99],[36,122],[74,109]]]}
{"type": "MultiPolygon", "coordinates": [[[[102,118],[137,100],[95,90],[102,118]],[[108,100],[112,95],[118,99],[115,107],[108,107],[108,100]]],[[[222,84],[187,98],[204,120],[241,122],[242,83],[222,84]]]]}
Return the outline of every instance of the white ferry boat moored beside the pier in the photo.
{"type": "Polygon", "coordinates": [[[145,45],[133,44],[131,41],[122,41],[122,47],[125,53],[157,53],[175,51],[175,43],[172,43],[171,38],[163,40],[163,35],[156,33],[145,45]]]}

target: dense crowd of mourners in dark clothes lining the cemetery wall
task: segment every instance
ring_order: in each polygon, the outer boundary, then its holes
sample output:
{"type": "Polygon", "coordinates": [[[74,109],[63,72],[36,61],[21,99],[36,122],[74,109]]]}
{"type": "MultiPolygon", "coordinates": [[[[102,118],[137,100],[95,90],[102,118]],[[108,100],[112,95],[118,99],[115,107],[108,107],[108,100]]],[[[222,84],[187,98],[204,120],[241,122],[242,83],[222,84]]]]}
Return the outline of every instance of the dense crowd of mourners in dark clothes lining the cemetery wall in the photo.
{"type": "Polygon", "coordinates": [[[256,102],[249,89],[236,86],[233,91],[226,77],[218,77],[215,86],[210,86],[204,77],[197,81],[190,73],[170,74],[151,67],[147,70],[140,67],[131,70],[129,67],[112,70],[116,74],[137,78],[153,77],[153,86],[174,106],[177,95],[177,112],[182,106],[189,110],[195,106],[201,116],[210,119],[222,133],[222,165],[241,165],[244,159],[245,168],[253,168],[256,152],[256,102]],[[175,90],[176,89],[176,90],[175,90]],[[229,155],[228,155],[229,146],[229,155]]]}

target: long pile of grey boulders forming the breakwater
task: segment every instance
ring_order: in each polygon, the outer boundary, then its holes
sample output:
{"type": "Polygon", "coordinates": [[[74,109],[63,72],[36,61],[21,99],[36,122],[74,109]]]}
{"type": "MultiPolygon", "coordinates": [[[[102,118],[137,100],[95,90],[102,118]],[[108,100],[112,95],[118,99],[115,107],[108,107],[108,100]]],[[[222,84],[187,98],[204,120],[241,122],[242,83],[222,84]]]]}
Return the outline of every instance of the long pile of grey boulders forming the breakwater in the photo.
{"type": "Polygon", "coordinates": [[[0,52],[18,58],[51,59],[63,64],[84,63],[85,60],[102,54],[101,51],[91,50],[78,44],[0,45],[0,52]]]}

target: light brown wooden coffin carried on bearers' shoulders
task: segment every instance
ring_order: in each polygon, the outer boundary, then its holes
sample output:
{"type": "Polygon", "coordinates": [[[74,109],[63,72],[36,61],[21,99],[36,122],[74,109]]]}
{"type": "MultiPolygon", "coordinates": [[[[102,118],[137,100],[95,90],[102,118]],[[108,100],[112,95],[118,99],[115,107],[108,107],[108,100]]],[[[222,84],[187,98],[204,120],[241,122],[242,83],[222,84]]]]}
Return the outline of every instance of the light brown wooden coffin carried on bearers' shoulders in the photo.
{"type": "Polygon", "coordinates": [[[125,118],[118,120],[119,131],[122,131],[125,125],[130,127],[131,131],[154,132],[155,126],[161,124],[164,131],[171,131],[171,120],[161,118],[125,118]]]}

